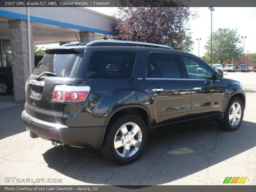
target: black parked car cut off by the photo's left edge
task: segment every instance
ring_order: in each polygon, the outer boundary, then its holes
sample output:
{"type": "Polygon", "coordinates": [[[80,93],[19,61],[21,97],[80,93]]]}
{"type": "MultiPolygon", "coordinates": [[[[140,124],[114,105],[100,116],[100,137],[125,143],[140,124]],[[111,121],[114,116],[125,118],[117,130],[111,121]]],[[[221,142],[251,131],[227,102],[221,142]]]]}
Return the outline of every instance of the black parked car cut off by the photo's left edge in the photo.
{"type": "Polygon", "coordinates": [[[12,89],[12,67],[0,67],[0,95],[10,94],[12,89]]]}

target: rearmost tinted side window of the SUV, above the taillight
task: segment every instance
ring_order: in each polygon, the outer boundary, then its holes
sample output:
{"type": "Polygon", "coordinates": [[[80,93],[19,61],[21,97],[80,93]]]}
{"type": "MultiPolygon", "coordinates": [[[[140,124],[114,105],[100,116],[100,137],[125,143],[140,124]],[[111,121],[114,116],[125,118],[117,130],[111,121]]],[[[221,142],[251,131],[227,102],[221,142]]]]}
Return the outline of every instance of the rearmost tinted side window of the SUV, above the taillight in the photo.
{"type": "Polygon", "coordinates": [[[88,78],[129,78],[132,75],[136,52],[95,51],[87,70],[88,78]]]}

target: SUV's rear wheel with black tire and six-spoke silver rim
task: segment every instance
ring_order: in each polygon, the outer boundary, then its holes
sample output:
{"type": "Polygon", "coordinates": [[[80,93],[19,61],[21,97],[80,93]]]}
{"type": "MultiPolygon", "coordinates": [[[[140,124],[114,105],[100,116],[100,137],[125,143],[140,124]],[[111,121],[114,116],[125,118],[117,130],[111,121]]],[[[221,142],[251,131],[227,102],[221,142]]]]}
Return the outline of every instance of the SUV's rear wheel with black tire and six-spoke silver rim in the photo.
{"type": "Polygon", "coordinates": [[[112,163],[118,165],[131,164],[141,156],[147,140],[148,131],[142,119],[135,115],[122,114],[108,124],[101,153],[112,163]],[[132,129],[138,131],[135,131],[134,136],[132,129]]]}

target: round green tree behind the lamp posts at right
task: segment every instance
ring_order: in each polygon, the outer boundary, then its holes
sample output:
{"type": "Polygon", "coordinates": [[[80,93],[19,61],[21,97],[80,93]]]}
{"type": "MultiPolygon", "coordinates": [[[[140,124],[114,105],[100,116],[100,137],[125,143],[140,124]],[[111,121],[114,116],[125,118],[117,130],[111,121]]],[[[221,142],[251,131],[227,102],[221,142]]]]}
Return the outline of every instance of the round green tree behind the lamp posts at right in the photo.
{"type": "MultiPolygon", "coordinates": [[[[241,43],[240,35],[237,34],[236,29],[225,28],[221,31],[221,55],[220,55],[220,31],[212,33],[212,64],[228,64],[233,60],[239,60],[240,54],[243,52],[243,48],[237,44],[241,43]]],[[[204,46],[206,53],[203,56],[203,60],[211,63],[211,37],[208,38],[206,45],[204,46]]]]}

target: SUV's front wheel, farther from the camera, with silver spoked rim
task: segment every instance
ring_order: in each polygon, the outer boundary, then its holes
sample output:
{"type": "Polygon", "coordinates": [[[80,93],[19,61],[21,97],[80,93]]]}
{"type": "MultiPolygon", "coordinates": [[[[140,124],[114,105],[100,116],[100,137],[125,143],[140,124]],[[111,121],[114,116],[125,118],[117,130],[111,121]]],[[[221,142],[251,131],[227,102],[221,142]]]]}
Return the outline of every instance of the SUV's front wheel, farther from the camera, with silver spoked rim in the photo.
{"type": "Polygon", "coordinates": [[[220,127],[226,131],[236,131],[240,127],[243,118],[244,104],[240,98],[235,97],[229,101],[224,118],[222,122],[220,122],[220,127]],[[241,110],[239,109],[239,106],[241,110]],[[236,114],[235,116],[233,115],[234,112],[236,114]],[[233,118],[230,119],[232,116],[233,118]],[[238,123],[237,120],[239,120],[238,123]]]}

